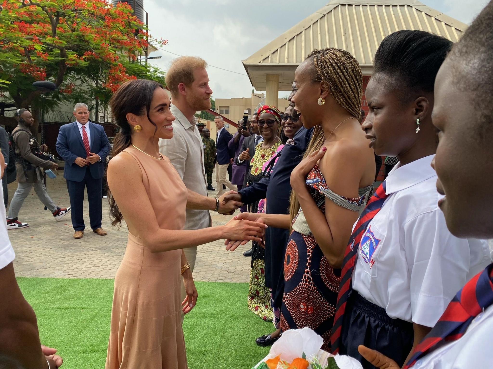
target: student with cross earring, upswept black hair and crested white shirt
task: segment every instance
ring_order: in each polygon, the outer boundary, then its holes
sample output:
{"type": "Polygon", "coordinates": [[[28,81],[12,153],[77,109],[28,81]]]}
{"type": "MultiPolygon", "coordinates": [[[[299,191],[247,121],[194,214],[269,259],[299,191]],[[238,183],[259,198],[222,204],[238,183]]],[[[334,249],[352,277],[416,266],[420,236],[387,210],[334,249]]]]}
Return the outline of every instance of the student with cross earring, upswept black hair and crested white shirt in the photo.
{"type": "MultiPolygon", "coordinates": [[[[376,154],[397,156],[399,163],[383,192],[377,190],[385,202],[359,243],[352,291],[343,316],[336,312],[332,342],[365,369],[374,366],[359,345],[402,367],[458,289],[491,261],[487,242],[453,236],[437,205],[433,85],[451,46],[444,37],[406,30],[387,36],[375,55],[362,128],[376,154]]],[[[345,265],[343,282],[344,271],[345,265]]]]}

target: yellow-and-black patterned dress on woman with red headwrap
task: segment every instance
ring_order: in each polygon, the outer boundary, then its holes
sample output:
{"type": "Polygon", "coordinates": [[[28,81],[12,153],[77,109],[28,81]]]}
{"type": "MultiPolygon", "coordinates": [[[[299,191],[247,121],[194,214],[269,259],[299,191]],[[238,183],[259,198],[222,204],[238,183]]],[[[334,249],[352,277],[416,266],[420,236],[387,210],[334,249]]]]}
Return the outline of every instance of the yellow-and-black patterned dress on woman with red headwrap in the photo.
{"type": "MultiPolygon", "coordinates": [[[[282,144],[281,140],[268,149],[262,148],[262,142],[255,147],[255,155],[250,161],[250,170],[247,173],[247,185],[254,184],[262,179],[262,167],[276,154],[282,144]]],[[[259,201],[252,204],[251,212],[258,212],[259,201]]],[[[248,308],[266,321],[272,321],[274,313],[271,307],[271,294],[265,286],[265,250],[257,242],[252,243],[253,254],[250,265],[250,287],[248,290],[248,308]]]]}

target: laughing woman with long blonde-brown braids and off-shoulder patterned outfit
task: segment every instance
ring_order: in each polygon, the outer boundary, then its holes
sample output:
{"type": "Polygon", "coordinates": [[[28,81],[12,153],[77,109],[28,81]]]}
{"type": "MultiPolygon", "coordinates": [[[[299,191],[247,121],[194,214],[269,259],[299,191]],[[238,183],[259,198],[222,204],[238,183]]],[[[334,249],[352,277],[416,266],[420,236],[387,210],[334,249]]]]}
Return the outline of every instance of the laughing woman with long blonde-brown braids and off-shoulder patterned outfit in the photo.
{"type": "Polygon", "coordinates": [[[282,332],[310,327],[330,351],[340,275],[333,268],[341,265],[352,225],[372,192],[375,159],[358,122],[362,75],[354,57],[314,50],[294,78],[291,102],[303,125],[314,127],[313,137],[291,173],[290,215],[262,214],[262,220],[277,228],[292,224],[283,255],[282,332]]]}

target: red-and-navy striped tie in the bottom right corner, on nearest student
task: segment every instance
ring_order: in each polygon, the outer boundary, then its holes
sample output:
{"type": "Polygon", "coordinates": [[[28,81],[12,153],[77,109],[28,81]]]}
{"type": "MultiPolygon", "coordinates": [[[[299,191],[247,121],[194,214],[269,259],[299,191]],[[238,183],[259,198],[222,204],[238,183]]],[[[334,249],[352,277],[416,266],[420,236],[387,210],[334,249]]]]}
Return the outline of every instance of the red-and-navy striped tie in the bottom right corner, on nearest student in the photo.
{"type": "Polygon", "coordinates": [[[473,277],[450,302],[428,335],[414,349],[404,369],[423,356],[461,338],[480,312],[493,305],[493,264],[473,277]]]}

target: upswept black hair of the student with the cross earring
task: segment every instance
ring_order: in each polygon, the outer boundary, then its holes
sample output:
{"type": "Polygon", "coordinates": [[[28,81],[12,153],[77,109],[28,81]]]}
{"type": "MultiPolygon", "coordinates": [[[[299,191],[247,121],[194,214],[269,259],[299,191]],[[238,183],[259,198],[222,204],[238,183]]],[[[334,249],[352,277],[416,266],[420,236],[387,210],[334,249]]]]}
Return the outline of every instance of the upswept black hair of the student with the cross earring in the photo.
{"type": "Polygon", "coordinates": [[[452,45],[447,38],[425,31],[393,32],[378,47],[373,74],[377,79],[385,77],[403,100],[414,99],[420,92],[433,92],[438,69],[452,45]]]}

